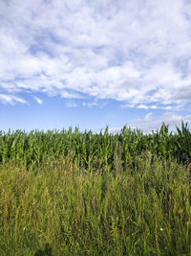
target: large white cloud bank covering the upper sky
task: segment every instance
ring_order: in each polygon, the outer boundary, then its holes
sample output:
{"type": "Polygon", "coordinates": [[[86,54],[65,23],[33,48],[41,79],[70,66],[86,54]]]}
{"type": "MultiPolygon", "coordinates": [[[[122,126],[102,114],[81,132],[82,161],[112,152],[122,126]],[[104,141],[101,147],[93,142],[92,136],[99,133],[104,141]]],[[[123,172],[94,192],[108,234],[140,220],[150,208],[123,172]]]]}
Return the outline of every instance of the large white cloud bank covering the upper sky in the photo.
{"type": "Polygon", "coordinates": [[[0,91],[186,105],[190,15],[186,0],[1,1],[0,91]]]}

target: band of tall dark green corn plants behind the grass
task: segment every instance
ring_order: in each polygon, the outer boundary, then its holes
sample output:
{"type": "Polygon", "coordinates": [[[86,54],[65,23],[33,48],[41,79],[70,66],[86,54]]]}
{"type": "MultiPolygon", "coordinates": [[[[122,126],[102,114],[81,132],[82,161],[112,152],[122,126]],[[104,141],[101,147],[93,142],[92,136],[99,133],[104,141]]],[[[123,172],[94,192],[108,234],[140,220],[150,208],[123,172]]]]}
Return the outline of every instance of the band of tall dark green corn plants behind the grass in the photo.
{"type": "Polygon", "coordinates": [[[151,134],[124,127],[119,134],[111,134],[108,128],[94,134],[80,132],[78,128],[69,130],[32,130],[27,133],[16,130],[8,133],[0,131],[0,163],[39,166],[43,161],[57,160],[70,154],[77,166],[85,169],[109,168],[116,165],[117,142],[120,143],[120,163],[123,169],[135,167],[135,157],[150,151],[165,159],[175,158],[178,163],[189,163],[191,159],[191,132],[188,124],[181,124],[177,132],[169,132],[163,124],[151,134]]]}

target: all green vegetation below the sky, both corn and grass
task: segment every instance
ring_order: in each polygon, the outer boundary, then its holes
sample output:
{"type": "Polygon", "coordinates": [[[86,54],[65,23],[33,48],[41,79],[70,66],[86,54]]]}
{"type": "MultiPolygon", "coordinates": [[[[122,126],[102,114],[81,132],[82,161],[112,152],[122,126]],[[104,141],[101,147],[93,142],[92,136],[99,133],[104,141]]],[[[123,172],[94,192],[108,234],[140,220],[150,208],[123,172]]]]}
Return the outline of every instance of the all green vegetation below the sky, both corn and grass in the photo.
{"type": "Polygon", "coordinates": [[[0,131],[0,255],[191,255],[191,131],[0,131]]]}

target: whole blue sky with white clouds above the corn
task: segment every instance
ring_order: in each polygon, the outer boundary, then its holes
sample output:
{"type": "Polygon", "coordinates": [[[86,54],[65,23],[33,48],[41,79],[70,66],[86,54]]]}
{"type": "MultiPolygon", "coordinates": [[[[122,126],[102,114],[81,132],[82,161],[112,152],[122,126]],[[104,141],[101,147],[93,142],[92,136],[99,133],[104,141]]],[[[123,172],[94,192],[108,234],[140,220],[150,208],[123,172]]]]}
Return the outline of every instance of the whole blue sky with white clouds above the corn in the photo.
{"type": "Polygon", "coordinates": [[[191,123],[190,0],[0,0],[0,130],[191,123]]]}

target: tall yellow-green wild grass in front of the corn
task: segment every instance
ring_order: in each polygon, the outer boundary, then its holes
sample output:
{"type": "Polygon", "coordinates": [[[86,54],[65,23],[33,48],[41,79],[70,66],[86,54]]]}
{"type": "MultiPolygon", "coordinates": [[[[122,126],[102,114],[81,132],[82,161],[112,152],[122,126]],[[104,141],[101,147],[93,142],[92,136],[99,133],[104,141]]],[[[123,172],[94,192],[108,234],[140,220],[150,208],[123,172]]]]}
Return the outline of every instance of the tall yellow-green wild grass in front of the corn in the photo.
{"type": "Polygon", "coordinates": [[[0,255],[191,255],[188,166],[144,152],[118,173],[71,158],[1,165],[0,255]]]}

